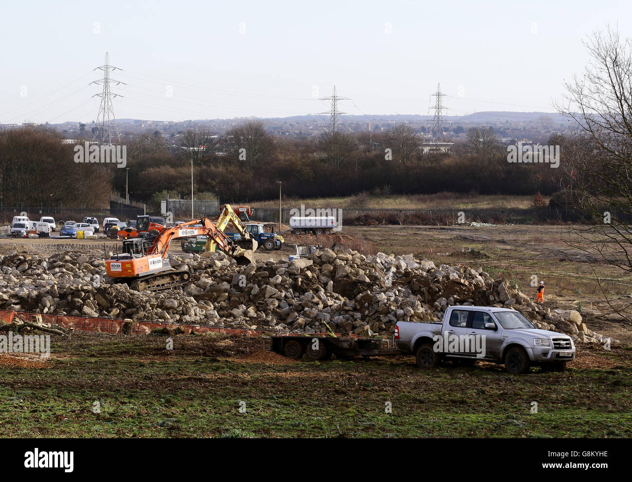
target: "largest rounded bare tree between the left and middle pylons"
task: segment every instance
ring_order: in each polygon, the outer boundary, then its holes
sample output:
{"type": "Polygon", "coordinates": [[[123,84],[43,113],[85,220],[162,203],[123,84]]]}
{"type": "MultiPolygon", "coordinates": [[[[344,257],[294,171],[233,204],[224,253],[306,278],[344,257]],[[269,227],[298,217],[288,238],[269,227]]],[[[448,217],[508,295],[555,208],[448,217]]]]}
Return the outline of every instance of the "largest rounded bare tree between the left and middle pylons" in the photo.
{"type": "Polygon", "coordinates": [[[265,132],[261,122],[246,122],[229,129],[221,146],[230,159],[250,168],[263,161],[270,161],[276,152],[274,138],[265,132]]]}

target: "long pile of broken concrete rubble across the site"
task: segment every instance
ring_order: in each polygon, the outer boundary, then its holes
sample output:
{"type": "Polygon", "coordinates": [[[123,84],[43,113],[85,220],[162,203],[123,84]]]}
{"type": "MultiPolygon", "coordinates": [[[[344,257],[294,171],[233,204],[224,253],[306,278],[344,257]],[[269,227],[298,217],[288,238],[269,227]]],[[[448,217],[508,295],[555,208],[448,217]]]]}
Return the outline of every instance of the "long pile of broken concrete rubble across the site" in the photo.
{"type": "MultiPolygon", "coordinates": [[[[600,342],[577,311],[533,304],[481,268],[435,266],[412,255],[324,249],[293,261],[238,266],[221,253],[171,257],[191,283],[161,292],[107,284],[105,261],[73,253],[0,256],[0,309],[164,320],[235,328],[390,335],[397,321],[438,321],[448,306],[511,307],[545,330],[600,342]]],[[[616,341],[616,340],[613,340],[616,341]]]]}

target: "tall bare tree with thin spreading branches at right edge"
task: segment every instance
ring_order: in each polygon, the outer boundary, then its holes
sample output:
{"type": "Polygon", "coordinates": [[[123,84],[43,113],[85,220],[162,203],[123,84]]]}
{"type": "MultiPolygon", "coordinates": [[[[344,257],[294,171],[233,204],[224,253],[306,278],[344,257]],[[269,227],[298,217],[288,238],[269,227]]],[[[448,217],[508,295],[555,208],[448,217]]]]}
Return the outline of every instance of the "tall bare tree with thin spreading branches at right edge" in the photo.
{"type": "Polygon", "coordinates": [[[573,207],[596,221],[574,228],[580,242],[573,244],[632,273],[632,39],[607,28],[584,44],[591,59],[565,84],[567,102],[557,106],[580,128],[573,207]]]}

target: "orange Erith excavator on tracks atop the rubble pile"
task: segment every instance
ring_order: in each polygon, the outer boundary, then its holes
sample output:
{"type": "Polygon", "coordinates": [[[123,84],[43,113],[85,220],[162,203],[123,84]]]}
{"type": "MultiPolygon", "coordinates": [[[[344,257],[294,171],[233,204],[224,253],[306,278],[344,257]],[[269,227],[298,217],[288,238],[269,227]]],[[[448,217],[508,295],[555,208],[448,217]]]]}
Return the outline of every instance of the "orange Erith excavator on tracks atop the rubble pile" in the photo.
{"type": "Polygon", "coordinates": [[[203,235],[213,240],[217,249],[232,256],[237,264],[254,263],[257,241],[252,239],[252,249],[243,249],[229,238],[208,218],[180,223],[165,228],[157,234],[123,241],[123,252],[106,260],[109,282],[127,283],[132,290],[158,291],[188,283],[188,271],[171,268],[167,250],[171,240],[203,235]],[[196,226],[197,225],[197,226],[196,226]]]}

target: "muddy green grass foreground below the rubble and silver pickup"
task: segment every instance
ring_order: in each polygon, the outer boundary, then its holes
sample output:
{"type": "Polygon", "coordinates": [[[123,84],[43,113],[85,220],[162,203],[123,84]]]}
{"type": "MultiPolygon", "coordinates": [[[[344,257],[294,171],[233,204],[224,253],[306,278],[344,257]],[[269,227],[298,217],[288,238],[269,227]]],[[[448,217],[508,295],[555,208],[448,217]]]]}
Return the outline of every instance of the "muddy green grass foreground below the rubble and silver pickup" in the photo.
{"type": "Polygon", "coordinates": [[[171,352],[157,335],[53,338],[42,366],[0,358],[0,436],[632,436],[625,349],[512,376],[487,363],[420,371],[401,355],[293,361],[265,338],[180,336],[171,352]]]}

